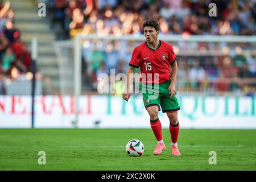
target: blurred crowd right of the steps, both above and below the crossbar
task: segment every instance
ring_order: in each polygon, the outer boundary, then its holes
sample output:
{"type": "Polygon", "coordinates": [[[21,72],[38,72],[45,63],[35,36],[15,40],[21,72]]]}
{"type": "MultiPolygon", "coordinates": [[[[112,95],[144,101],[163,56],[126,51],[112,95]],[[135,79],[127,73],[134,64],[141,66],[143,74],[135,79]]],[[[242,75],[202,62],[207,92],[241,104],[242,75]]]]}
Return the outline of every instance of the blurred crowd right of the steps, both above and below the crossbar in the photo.
{"type": "MultiPolygon", "coordinates": [[[[73,38],[76,34],[98,36],[143,34],[146,19],[158,20],[160,35],[256,35],[256,2],[204,0],[69,0],[48,1],[56,39],[73,38]],[[208,15],[209,3],[216,3],[217,16],[208,15]]],[[[131,53],[139,42],[83,43],[83,78],[97,89],[100,73],[126,73],[131,53]]],[[[255,93],[255,43],[196,43],[172,42],[177,53],[178,90],[205,93],[255,93]],[[200,56],[186,51],[200,51],[200,56]],[[208,55],[208,51],[218,51],[208,55]],[[183,54],[182,54],[183,53],[183,54]]],[[[198,54],[197,54],[198,55],[198,54]]],[[[119,92],[121,93],[121,92],[119,92]]]]}

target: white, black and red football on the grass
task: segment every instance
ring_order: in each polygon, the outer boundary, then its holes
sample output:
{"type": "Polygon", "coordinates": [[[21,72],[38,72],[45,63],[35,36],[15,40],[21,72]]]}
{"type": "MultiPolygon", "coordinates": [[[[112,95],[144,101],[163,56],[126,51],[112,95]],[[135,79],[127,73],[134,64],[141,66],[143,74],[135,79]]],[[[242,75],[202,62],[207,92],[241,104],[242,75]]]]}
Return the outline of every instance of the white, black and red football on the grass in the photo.
{"type": "Polygon", "coordinates": [[[143,143],[140,140],[133,139],[126,144],[126,154],[130,156],[141,156],[144,152],[143,143]]]}

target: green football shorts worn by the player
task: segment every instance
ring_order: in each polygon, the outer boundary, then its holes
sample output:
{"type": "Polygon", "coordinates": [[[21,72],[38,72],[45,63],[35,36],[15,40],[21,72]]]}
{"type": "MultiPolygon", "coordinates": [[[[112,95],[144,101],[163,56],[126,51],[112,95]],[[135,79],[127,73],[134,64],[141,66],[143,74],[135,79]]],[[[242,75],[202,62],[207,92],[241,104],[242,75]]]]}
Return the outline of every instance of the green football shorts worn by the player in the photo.
{"type": "Polygon", "coordinates": [[[139,82],[139,88],[143,96],[145,108],[147,109],[148,106],[157,105],[160,111],[161,106],[163,113],[166,113],[167,111],[180,110],[177,93],[175,92],[175,96],[172,98],[169,93],[168,88],[170,84],[171,80],[158,85],[139,82]]]}

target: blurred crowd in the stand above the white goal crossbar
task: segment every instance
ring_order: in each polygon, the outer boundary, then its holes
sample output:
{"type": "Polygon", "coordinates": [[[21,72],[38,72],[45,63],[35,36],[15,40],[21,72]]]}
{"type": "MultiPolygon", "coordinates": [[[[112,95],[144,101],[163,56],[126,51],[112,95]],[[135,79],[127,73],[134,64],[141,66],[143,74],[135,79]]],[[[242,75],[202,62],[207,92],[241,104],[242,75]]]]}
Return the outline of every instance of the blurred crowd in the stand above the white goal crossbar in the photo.
{"type": "Polygon", "coordinates": [[[48,0],[48,8],[59,39],[143,34],[146,19],[158,20],[162,34],[256,34],[255,0],[48,0]],[[216,17],[208,15],[209,3],[216,3],[216,17]]]}

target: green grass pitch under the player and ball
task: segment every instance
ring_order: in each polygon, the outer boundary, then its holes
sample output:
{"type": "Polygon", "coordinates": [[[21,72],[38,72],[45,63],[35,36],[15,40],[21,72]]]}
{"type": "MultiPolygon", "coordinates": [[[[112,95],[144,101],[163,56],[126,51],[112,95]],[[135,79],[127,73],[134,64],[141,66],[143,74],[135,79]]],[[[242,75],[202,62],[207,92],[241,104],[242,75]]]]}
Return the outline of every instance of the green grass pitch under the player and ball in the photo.
{"type": "Polygon", "coordinates": [[[181,156],[171,155],[168,129],[163,138],[166,151],[155,156],[150,129],[0,129],[0,170],[256,170],[256,130],[180,130],[181,156]],[[144,144],[141,157],[126,154],[130,139],[144,144]]]}

